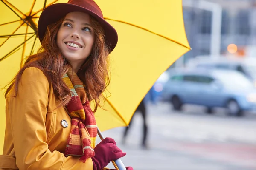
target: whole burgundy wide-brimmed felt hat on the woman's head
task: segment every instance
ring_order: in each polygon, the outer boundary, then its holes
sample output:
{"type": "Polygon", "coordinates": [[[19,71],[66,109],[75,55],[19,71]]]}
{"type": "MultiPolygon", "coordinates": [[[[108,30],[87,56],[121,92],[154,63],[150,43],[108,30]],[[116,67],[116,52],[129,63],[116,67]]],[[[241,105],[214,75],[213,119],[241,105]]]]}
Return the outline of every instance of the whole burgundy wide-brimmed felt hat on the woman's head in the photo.
{"type": "Polygon", "coordinates": [[[56,23],[70,12],[84,12],[95,18],[104,29],[105,42],[110,51],[116,46],[118,36],[115,28],[104,20],[102,11],[93,0],[69,0],[67,3],[56,3],[44,9],[38,21],[38,38],[42,42],[47,26],[56,23]]]}

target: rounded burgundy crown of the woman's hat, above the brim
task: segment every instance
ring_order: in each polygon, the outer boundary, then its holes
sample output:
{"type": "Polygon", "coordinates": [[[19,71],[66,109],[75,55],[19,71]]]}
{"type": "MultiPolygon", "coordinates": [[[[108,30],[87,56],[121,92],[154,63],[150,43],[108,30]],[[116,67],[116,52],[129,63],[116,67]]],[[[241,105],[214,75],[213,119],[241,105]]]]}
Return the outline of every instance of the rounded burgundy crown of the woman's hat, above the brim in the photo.
{"type": "Polygon", "coordinates": [[[93,0],[69,0],[67,3],[86,8],[103,18],[101,9],[93,0]]]}

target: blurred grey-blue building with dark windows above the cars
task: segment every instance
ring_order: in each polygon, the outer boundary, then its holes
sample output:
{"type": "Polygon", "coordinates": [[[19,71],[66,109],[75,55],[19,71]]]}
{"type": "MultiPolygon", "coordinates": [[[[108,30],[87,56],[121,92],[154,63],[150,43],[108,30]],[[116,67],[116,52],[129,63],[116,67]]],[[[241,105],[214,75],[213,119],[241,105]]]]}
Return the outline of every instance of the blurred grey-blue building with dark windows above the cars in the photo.
{"type": "Polygon", "coordinates": [[[237,45],[237,56],[256,57],[256,0],[183,0],[183,16],[193,50],[182,62],[198,55],[226,55],[230,44],[237,45]]]}

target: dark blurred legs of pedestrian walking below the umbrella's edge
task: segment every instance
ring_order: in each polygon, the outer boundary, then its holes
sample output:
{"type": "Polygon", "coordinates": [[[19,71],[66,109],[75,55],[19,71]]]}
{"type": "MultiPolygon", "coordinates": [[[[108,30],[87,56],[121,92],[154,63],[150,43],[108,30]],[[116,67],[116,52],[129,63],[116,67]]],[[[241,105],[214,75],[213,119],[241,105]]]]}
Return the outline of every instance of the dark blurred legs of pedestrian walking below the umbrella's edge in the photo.
{"type": "MultiPolygon", "coordinates": [[[[142,144],[141,146],[144,148],[144,149],[148,149],[148,145],[147,145],[147,136],[148,136],[148,125],[147,125],[147,121],[146,121],[146,107],[145,107],[145,99],[143,99],[139,106],[137,107],[134,115],[136,113],[141,113],[142,117],[143,117],[143,138],[142,138],[142,144]]],[[[129,123],[129,126],[125,127],[125,132],[123,134],[123,141],[122,143],[125,144],[125,141],[126,141],[126,137],[127,137],[127,133],[128,133],[128,130],[132,124],[132,121],[134,119],[134,115],[132,116],[131,118],[131,121],[129,123]]]]}

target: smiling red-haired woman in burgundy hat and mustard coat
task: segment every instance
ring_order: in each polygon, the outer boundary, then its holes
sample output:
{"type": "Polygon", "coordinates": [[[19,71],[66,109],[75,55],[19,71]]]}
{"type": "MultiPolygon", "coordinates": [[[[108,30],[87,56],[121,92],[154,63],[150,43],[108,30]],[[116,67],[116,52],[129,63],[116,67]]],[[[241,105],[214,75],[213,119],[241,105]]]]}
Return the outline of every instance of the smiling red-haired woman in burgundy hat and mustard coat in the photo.
{"type": "Polygon", "coordinates": [[[28,57],[6,91],[0,167],[102,170],[126,154],[111,138],[95,147],[94,112],[108,85],[117,33],[93,0],[70,0],[44,9],[38,37],[38,54],[28,57]]]}

